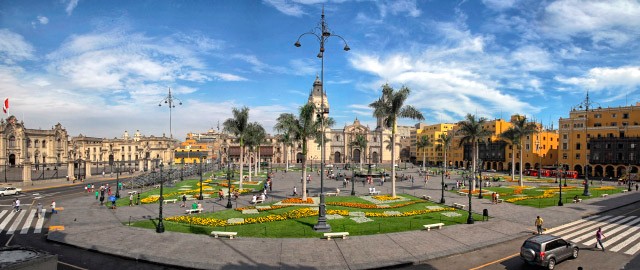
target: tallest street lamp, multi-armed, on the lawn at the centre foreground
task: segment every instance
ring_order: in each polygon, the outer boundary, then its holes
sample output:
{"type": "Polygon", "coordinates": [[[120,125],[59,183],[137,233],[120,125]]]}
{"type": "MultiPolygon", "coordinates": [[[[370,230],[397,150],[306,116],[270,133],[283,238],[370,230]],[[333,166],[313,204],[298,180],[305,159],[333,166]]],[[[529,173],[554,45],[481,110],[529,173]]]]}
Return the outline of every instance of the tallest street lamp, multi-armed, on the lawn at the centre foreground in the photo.
{"type": "MultiPolygon", "coordinates": [[[[318,42],[320,43],[320,51],[318,53],[318,58],[320,58],[321,60],[321,71],[320,71],[320,82],[322,83],[322,87],[321,89],[321,102],[320,102],[320,124],[322,127],[322,136],[320,139],[320,205],[318,207],[318,223],[316,225],[313,226],[313,229],[315,231],[320,231],[320,232],[328,232],[331,231],[331,226],[327,223],[327,217],[326,217],[326,204],[325,204],[325,200],[324,200],[324,160],[325,160],[325,144],[324,144],[324,121],[325,121],[325,114],[329,113],[328,108],[326,108],[325,110],[325,106],[324,106],[324,43],[329,39],[329,37],[331,36],[335,36],[340,38],[343,42],[344,42],[344,50],[345,51],[349,51],[351,48],[349,48],[349,45],[347,44],[347,41],[339,36],[336,35],[334,33],[331,32],[331,30],[329,30],[329,28],[327,27],[327,24],[324,20],[324,7],[322,8],[322,15],[320,16],[320,24],[316,27],[314,27],[312,30],[310,30],[309,32],[303,33],[298,37],[298,40],[296,40],[296,43],[294,44],[294,46],[296,47],[300,47],[300,38],[302,38],[302,36],[304,35],[313,35],[318,39],[318,42]]],[[[303,192],[306,192],[303,190],[303,192]]]]}

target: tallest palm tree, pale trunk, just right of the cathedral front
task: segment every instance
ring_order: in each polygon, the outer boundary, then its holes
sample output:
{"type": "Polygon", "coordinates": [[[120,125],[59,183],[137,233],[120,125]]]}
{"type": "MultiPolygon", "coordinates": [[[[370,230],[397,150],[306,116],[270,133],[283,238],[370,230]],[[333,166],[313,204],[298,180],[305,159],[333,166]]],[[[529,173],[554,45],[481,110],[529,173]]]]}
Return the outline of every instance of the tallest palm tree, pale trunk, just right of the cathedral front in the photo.
{"type": "MultiPolygon", "coordinates": [[[[416,108],[404,105],[411,90],[406,86],[395,91],[391,86],[382,86],[382,96],[369,104],[373,108],[373,116],[383,120],[385,127],[391,128],[391,145],[395,146],[398,118],[423,120],[424,116],[416,108]]],[[[396,160],[395,147],[391,148],[391,196],[396,197],[396,160]]]]}

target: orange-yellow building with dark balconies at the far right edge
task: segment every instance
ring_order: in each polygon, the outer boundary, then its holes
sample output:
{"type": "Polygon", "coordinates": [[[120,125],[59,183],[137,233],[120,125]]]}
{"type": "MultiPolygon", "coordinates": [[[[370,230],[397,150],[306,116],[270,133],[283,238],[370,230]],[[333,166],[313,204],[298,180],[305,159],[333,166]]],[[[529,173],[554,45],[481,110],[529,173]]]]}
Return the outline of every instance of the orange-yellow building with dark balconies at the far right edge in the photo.
{"type": "Polygon", "coordinates": [[[638,171],[640,103],[572,110],[560,118],[559,163],[589,177],[620,177],[638,171]]]}

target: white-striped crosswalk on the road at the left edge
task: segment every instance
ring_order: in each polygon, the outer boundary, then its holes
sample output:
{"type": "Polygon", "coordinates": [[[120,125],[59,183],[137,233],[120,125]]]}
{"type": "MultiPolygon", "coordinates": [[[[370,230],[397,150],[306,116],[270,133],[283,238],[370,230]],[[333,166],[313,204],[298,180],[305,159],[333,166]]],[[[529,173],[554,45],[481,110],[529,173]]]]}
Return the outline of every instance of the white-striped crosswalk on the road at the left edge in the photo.
{"type": "Polygon", "coordinates": [[[36,217],[36,209],[23,209],[20,212],[15,212],[13,210],[0,211],[0,234],[27,234],[29,231],[33,233],[42,233],[45,211],[45,209],[42,209],[40,218],[36,217]],[[32,224],[34,225],[32,226],[32,224]]]}

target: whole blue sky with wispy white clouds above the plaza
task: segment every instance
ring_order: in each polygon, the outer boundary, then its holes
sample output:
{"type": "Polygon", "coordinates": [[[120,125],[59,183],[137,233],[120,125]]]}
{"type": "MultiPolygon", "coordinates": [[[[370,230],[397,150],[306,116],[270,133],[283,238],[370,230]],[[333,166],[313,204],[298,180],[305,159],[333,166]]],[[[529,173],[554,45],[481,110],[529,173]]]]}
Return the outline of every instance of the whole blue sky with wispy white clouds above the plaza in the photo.
{"type": "MultiPolygon", "coordinates": [[[[29,128],[72,136],[216,128],[232,107],[271,131],[307,100],[326,20],[325,90],[337,127],[381,85],[412,90],[426,123],[525,114],[557,127],[589,90],[602,107],[640,101],[640,2],[0,0],[0,97],[29,128]],[[164,104],[163,104],[164,105],[164,104]]],[[[415,124],[403,120],[401,124],[415,124]]]]}

